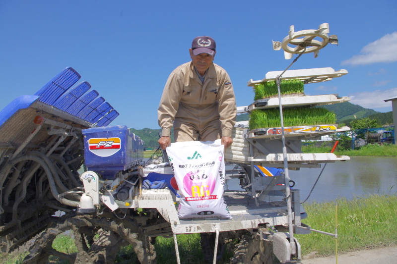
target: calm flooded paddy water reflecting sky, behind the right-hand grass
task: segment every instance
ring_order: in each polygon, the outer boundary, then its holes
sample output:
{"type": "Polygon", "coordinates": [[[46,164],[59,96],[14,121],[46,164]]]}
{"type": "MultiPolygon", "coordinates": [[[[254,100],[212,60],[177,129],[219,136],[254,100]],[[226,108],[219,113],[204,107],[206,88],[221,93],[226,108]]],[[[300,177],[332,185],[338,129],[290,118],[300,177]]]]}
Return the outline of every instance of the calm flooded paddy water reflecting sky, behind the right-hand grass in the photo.
{"type": "MultiPolygon", "coordinates": [[[[295,188],[305,199],[321,169],[290,171],[295,188]]],[[[397,158],[351,157],[351,160],[327,164],[308,201],[334,200],[338,197],[352,199],[365,194],[397,191],[397,158]]]]}

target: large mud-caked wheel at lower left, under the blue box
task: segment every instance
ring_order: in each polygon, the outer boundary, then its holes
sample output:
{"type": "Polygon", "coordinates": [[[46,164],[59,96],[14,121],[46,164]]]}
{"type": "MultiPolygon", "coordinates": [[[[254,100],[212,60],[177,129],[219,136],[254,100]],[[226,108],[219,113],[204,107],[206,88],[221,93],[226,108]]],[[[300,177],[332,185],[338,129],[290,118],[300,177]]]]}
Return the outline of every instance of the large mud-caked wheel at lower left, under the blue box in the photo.
{"type": "Polygon", "coordinates": [[[111,214],[97,218],[70,211],[58,223],[52,223],[30,248],[23,264],[45,264],[53,255],[71,264],[111,264],[121,246],[131,244],[141,264],[155,264],[156,253],[150,237],[131,219],[123,221],[111,214]],[[72,230],[78,252],[65,254],[52,248],[57,235],[72,230]],[[96,240],[92,238],[98,234],[96,240]]]}

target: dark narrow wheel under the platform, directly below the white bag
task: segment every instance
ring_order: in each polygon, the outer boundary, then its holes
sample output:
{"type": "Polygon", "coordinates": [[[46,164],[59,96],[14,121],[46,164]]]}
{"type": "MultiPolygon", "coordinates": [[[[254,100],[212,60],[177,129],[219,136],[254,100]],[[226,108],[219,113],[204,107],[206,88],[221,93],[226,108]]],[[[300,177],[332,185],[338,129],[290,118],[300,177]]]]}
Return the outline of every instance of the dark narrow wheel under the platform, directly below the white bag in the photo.
{"type": "MultiPolygon", "coordinates": [[[[204,255],[204,259],[207,263],[213,263],[214,259],[214,248],[215,248],[215,233],[200,233],[201,252],[204,255]]],[[[216,252],[216,261],[219,261],[223,257],[225,250],[225,242],[222,236],[219,234],[218,250],[216,252]]]]}

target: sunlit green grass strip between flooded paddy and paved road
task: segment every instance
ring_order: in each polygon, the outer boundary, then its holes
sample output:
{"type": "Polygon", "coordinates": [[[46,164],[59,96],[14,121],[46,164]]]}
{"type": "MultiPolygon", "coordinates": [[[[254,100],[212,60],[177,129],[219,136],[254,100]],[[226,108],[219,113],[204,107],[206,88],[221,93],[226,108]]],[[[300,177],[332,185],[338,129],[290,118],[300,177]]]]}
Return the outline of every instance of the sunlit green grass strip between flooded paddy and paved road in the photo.
{"type": "MultiPolygon", "coordinates": [[[[338,253],[390,246],[397,241],[397,196],[368,195],[353,200],[340,198],[332,202],[305,205],[308,218],[303,222],[314,229],[335,232],[337,204],[338,253]]],[[[317,251],[320,256],[335,253],[334,238],[320,233],[296,235],[302,255],[317,251]]]]}

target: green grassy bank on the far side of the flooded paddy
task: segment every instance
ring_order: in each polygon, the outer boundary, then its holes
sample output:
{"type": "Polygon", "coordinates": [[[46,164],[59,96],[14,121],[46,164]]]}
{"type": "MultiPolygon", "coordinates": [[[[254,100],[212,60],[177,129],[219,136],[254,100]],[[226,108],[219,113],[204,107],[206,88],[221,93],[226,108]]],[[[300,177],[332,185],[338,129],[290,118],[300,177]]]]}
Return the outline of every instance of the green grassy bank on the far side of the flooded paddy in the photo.
{"type": "MultiPolygon", "coordinates": [[[[332,147],[318,147],[311,145],[302,146],[303,153],[330,153],[332,147]]],[[[341,156],[377,156],[377,157],[397,157],[397,145],[393,144],[369,144],[357,150],[338,150],[334,152],[335,155],[341,156]]]]}

